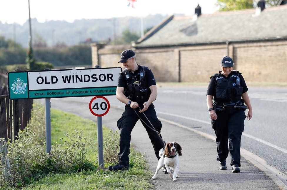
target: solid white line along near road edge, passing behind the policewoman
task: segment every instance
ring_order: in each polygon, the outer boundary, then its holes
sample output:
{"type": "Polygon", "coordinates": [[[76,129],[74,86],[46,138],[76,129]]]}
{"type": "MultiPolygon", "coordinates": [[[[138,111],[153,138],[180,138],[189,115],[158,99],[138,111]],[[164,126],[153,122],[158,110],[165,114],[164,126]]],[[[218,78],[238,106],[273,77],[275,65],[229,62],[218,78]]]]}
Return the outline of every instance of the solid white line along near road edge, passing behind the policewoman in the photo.
{"type": "MultiPolygon", "coordinates": [[[[166,112],[162,112],[162,111],[156,111],[156,113],[160,113],[160,114],[168,115],[168,116],[173,116],[173,117],[178,117],[178,118],[183,118],[183,119],[188,119],[188,120],[197,121],[197,122],[200,122],[200,123],[205,123],[205,124],[211,125],[211,122],[203,121],[203,120],[196,119],[196,118],[190,118],[190,117],[180,116],[180,115],[176,115],[176,114],[172,114],[172,113],[166,113],[166,112]]],[[[258,142],[260,142],[260,143],[263,143],[263,144],[265,144],[265,145],[267,145],[267,146],[270,146],[270,147],[272,147],[272,148],[275,148],[275,149],[277,149],[277,150],[280,150],[280,151],[282,151],[282,152],[284,152],[284,153],[287,154],[287,150],[286,150],[286,149],[281,148],[281,147],[278,147],[277,145],[274,145],[274,144],[272,144],[272,143],[269,143],[269,142],[267,142],[267,141],[265,141],[265,140],[262,140],[262,139],[260,139],[260,138],[254,137],[253,135],[249,135],[249,134],[247,134],[247,133],[242,133],[242,135],[243,135],[243,136],[246,136],[246,137],[248,137],[248,138],[251,138],[251,139],[253,139],[253,140],[256,140],[256,141],[258,141],[258,142]]]]}

